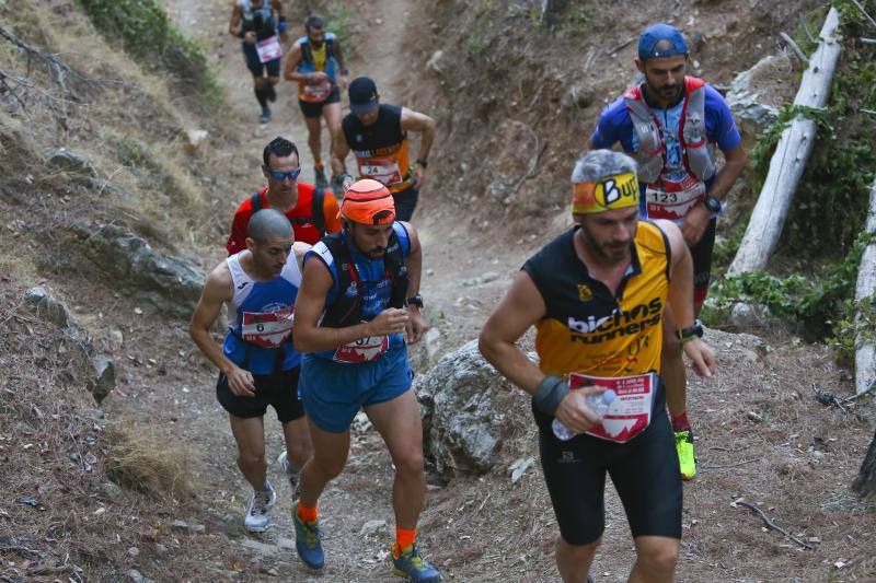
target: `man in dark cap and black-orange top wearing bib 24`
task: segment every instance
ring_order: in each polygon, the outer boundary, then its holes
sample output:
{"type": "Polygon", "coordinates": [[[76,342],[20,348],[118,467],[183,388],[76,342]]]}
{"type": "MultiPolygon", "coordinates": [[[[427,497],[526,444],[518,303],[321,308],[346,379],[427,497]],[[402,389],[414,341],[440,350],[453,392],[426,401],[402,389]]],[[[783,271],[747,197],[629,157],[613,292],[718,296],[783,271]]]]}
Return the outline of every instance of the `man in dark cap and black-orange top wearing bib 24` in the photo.
{"type": "Polygon", "coordinates": [[[361,178],[377,180],[392,193],[395,214],[410,221],[426,180],[429,150],[435,139],[435,120],[401,107],[380,103],[377,85],[367,77],[349,84],[350,113],[344,117],[341,131],[332,140],[332,175],[334,190],[343,191],[353,184],[344,159],[353,150],[361,178]],[[420,135],[419,152],[414,164],[407,153],[407,132],[420,135]],[[343,190],[342,190],[343,188],[343,190]]]}

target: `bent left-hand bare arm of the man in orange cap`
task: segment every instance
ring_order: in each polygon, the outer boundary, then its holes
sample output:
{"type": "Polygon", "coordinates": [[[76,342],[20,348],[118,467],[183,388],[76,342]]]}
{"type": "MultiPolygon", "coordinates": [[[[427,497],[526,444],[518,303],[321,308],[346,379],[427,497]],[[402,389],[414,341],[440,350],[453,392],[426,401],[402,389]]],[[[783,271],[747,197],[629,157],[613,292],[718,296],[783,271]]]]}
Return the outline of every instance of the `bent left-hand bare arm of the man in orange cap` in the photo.
{"type": "Polygon", "coordinates": [[[295,347],[299,352],[323,352],[368,338],[404,331],[407,314],[404,310],[384,310],[374,319],[345,328],[320,327],[325,311],[325,298],[332,288],[332,273],[320,259],[304,264],[301,288],[295,303],[295,347]]]}

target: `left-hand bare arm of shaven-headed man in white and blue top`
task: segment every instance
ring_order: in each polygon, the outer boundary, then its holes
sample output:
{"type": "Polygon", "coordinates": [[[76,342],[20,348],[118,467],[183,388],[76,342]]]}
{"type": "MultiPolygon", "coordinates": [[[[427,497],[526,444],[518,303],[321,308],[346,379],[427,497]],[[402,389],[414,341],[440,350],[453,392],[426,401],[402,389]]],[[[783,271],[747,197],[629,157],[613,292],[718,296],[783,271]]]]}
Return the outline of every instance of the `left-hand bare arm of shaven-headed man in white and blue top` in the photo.
{"type": "Polygon", "coordinates": [[[192,314],[192,322],[188,324],[188,335],[204,354],[210,359],[219,371],[228,377],[229,388],[238,396],[253,396],[255,385],[252,375],[240,369],[237,364],[228,360],[222,347],[212,339],[210,328],[216,324],[222,303],[233,298],[234,289],[231,282],[231,273],[226,264],[219,264],[204,284],[200,299],[192,314]]]}

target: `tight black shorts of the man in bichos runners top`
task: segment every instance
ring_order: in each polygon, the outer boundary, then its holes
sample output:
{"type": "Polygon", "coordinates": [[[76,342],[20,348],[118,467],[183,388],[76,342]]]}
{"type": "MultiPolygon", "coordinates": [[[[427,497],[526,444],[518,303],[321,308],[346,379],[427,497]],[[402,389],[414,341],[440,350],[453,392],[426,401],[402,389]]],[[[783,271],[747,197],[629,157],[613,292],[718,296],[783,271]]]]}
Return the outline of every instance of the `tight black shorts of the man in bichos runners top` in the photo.
{"type": "Polygon", "coordinates": [[[539,451],[560,534],[569,545],[596,541],[606,528],[606,474],[623,502],[633,537],[681,538],[681,474],[662,390],[650,425],[626,443],[590,435],[554,436],[539,411],[539,451]]]}

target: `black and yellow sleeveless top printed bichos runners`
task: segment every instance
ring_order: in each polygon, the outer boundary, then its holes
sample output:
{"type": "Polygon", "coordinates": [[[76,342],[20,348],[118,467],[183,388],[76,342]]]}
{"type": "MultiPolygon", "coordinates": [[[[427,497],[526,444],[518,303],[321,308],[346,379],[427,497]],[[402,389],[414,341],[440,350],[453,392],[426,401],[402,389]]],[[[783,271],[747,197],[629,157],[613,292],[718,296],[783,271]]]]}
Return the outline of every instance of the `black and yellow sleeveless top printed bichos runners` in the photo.
{"type": "Polygon", "coordinates": [[[540,369],[560,376],[659,373],[669,292],[666,236],[652,223],[638,223],[632,264],[613,295],[590,277],[575,253],[577,229],[555,238],[523,266],[548,307],[537,324],[540,369]]]}

